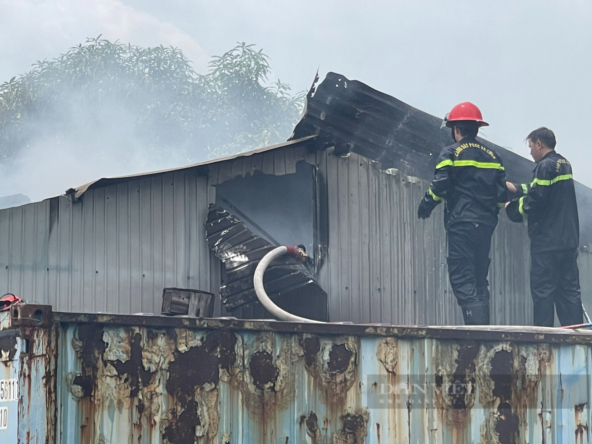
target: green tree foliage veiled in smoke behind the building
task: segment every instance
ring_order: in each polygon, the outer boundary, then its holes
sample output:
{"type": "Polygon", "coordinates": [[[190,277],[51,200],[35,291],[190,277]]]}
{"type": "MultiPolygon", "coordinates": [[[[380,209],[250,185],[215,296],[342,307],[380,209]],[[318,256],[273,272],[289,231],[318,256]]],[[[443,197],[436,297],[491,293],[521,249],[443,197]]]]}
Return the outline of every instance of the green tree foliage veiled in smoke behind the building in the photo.
{"type": "Polygon", "coordinates": [[[0,160],[35,140],[82,143],[107,133],[188,161],[285,141],[305,95],[266,84],[268,62],[240,43],[200,75],[173,47],[88,39],[0,85],[0,160]]]}

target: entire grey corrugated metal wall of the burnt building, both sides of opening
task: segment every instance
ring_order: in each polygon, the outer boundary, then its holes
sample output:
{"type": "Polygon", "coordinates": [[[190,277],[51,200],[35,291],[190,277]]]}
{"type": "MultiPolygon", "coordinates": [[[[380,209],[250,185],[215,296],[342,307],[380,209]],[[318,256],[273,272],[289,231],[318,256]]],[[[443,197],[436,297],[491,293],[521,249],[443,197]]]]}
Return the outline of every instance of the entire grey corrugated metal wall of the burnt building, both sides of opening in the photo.
{"type": "MultiPolygon", "coordinates": [[[[220,261],[205,243],[208,189],[255,170],[284,175],[314,163],[326,184],[329,245],[319,283],[332,321],[459,324],[448,284],[442,206],[426,221],[417,203],[427,182],[365,157],[286,147],[195,169],[90,189],[0,210],[0,291],[62,311],[160,313],[164,287],[218,294],[220,261]],[[208,186],[209,185],[209,186],[208,186]]],[[[492,322],[532,324],[526,226],[502,213],[491,252],[492,322]]],[[[592,258],[580,253],[585,307],[592,310],[592,258]]],[[[225,312],[215,298],[214,316],[225,312]]],[[[247,307],[238,317],[269,317],[247,307]]]]}

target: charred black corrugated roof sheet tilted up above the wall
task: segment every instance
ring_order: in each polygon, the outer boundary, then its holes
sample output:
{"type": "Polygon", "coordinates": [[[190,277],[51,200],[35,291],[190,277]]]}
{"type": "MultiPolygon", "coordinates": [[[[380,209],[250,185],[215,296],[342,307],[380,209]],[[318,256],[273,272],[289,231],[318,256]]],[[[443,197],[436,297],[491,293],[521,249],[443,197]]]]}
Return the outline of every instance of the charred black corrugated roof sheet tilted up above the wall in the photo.
{"type": "MultiPolygon", "coordinates": [[[[315,82],[317,79],[315,79],[315,82]]],[[[353,152],[395,168],[407,175],[431,180],[440,151],[451,144],[442,118],[417,110],[362,82],[330,72],[310,89],[305,114],[294,128],[291,140],[317,134],[318,143],[335,146],[336,153],[353,152]]],[[[511,182],[532,180],[535,163],[489,140],[477,138],[500,154],[511,182]]],[[[581,244],[592,242],[592,189],[575,182],[580,209],[581,244]]]]}

